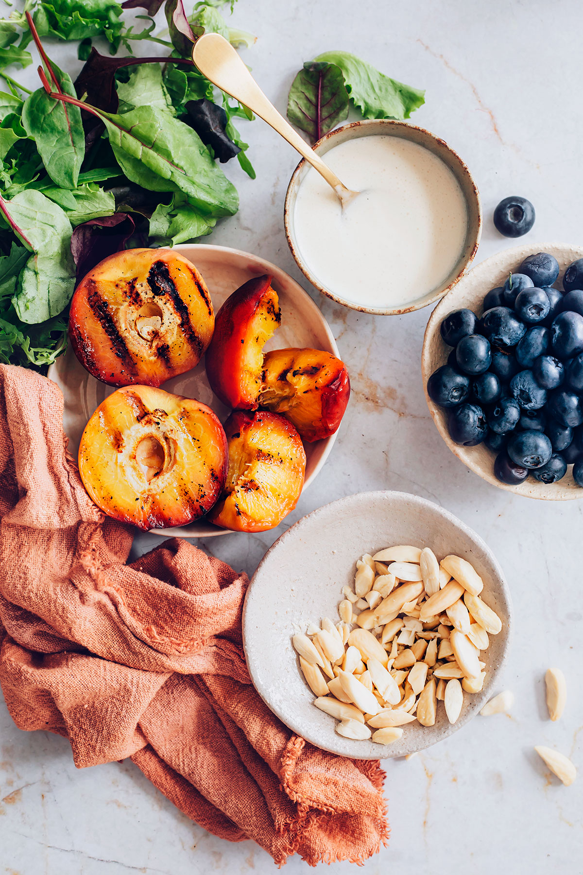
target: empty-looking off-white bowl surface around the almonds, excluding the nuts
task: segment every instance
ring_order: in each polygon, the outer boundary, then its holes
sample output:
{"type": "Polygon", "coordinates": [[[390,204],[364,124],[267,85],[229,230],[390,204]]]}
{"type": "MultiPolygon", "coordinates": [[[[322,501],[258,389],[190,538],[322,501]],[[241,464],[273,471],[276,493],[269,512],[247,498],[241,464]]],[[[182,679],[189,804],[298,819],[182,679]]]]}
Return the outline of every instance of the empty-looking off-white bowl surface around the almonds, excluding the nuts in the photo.
{"type": "Polygon", "coordinates": [[[416,495],[358,493],[304,516],[267,550],[247,592],[243,643],[256,690],[293,732],[346,757],[400,757],[447,739],[491,697],[508,648],[511,611],[510,593],[496,558],[461,520],[416,495]],[[342,588],[353,584],[357,559],[401,543],[431,546],[440,559],[454,553],[473,563],[484,581],[484,600],[503,621],[502,631],[490,635],[482,660],[487,664],[483,690],[474,696],[464,693],[457,723],[448,722],[439,704],[434,726],[407,724],[392,745],[344,739],[335,731],[336,721],[314,706],[292,636],[323,617],[336,622],[342,588]]]}

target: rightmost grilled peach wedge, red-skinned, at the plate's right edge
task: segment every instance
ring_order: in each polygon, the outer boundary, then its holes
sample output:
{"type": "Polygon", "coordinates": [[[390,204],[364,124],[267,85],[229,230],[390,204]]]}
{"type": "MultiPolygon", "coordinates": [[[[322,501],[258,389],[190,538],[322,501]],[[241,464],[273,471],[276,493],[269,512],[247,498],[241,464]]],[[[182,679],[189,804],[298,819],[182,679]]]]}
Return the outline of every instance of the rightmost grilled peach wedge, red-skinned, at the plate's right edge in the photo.
{"type": "Polygon", "coordinates": [[[337,430],[350,398],[344,362],[321,349],[274,349],[263,359],[261,407],[281,413],[311,443],[337,430]]]}

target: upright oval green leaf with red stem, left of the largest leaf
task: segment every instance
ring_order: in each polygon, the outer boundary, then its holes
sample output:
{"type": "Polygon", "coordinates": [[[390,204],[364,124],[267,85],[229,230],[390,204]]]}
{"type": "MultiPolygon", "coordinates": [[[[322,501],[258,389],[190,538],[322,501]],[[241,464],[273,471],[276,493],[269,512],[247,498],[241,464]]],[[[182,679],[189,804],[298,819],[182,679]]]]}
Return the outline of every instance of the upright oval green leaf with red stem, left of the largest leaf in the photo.
{"type": "MultiPolygon", "coordinates": [[[[48,63],[54,84],[62,94],[75,95],[73,81],[59,67],[48,63]]],[[[74,188],[85,156],[85,133],[80,109],[53,101],[45,88],[38,88],[24,102],[22,122],[37,144],[45,170],[61,188],[74,188]]]]}

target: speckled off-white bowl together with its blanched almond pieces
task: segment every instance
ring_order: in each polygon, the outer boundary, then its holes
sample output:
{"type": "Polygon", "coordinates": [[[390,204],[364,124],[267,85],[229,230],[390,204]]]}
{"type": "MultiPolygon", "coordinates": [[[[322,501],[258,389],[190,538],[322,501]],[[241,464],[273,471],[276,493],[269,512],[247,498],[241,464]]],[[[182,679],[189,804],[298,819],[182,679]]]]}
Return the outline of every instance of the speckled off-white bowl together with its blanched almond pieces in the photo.
{"type": "Polygon", "coordinates": [[[448,738],[488,701],[510,640],[489,547],[419,496],[318,508],[262,559],[243,616],[255,688],[293,732],[355,759],[448,738]]]}

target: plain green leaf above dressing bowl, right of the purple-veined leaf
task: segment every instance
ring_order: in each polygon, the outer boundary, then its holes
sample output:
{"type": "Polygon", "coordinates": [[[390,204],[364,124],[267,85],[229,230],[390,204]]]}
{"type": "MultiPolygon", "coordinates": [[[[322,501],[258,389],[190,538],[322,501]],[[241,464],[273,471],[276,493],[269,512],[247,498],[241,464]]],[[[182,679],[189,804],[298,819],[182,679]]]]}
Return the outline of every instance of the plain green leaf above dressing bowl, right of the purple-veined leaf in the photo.
{"type": "Polygon", "coordinates": [[[340,67],[350,100],[364,118],[410,118],[425,103],[425,91],[389,79],[349,52],[323,52],[314,60],[340,67]]]}

